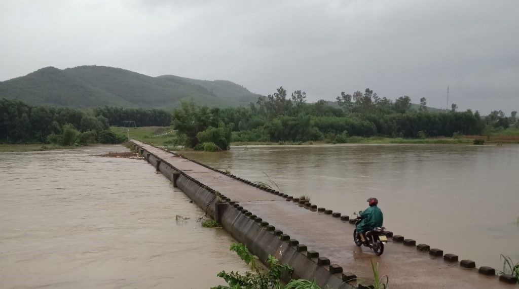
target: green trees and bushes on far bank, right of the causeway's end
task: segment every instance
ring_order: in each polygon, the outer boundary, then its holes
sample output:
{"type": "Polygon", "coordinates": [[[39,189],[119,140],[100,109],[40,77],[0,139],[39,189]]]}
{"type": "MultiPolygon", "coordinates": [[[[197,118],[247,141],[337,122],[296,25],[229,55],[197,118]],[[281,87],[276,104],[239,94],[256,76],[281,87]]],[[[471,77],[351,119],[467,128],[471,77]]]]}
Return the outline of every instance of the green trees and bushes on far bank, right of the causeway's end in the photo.
{"type": "Polygon", "coordinates": [[[458,112],[457,105],[453,105],[448,112],[430,112],[425,98],[413,110],[408,96],[392,100],[370,89],[364,93],[342,92],[337,104],[338,107],[332,107],[325,100],[306,103],[304,91],[296,90],[289,95],[280,87],[276,93],[258,97],[249,107],[220,109],[183,103],[173,111],[172,124],[186,136],[184,144],[188,147],[203,149],[204,142],[214,145],[218,142],[217,147],[225,150],[231,138],[233,141],[345,142],[350,136],[452,137],[480,135],[488,129],[517,123],[515,111],[510,117],[502,111],[493,111],[482,118],[477,111],[458,112]]]}

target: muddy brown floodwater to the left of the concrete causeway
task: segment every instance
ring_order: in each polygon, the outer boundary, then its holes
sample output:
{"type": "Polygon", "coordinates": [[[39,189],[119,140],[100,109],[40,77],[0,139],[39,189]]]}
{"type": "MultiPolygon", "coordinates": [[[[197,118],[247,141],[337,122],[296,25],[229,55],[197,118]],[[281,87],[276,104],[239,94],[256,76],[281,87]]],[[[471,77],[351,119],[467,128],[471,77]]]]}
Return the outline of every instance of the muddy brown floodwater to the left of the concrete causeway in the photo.
{"type": "Polygon", "coordinates": [[[110,151],[127,149],[0,153],[1,288],[209,288],[247,269],[153,166],[92,156],[110,151]]]}

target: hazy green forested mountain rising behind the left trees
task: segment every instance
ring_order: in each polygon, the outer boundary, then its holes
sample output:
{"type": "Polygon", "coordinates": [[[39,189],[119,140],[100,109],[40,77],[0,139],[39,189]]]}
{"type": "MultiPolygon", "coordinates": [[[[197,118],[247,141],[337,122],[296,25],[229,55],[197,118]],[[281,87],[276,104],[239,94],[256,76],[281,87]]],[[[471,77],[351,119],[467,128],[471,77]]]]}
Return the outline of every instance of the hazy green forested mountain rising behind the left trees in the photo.
{"type": "Polygon", "coordinates": [[[45,67],[0,82],[0,98],[32,105],[66,107],[153,107],[171,109],[182,100],[229,107],[248,105],[258,95],[226,80],[198,80],[173,75],[151,77],[106,66],[45,67]]]}

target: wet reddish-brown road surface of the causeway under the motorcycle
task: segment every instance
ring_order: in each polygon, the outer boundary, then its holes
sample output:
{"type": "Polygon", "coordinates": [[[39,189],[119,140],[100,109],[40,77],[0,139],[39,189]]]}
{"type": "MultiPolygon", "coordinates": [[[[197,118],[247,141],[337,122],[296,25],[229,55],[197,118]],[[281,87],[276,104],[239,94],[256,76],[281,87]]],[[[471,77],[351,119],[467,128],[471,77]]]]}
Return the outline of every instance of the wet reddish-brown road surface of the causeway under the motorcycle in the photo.
{"type": "MultiPolygon", "coordinates": [[[[379,263],[380,273],[389,276],[392,288],[517,288],[516,285],[498,281],[495,276],[483,276],[477,273],[477,269],[462,268],[459,262],[450,263],[442,257],[431,257],[428,253],[419,252],[414,246],[392,242],[391,238],[384,254],[376,256],[373,251],[353,243],[354,226],[348,222],[299,207],[292,201],[185,158],[139,141],[134,142],[189,176],[238,201],[244,209],[260,216],[292,239],[297,239],[300,244],[307,245],[308,250],[329,258],[331,264],[340,265],[345,272],[356,274],[358,278],[373,280],[372,259],[379,263]]],[[[442,249],[445,251],[445,248],[442,249]]]]}

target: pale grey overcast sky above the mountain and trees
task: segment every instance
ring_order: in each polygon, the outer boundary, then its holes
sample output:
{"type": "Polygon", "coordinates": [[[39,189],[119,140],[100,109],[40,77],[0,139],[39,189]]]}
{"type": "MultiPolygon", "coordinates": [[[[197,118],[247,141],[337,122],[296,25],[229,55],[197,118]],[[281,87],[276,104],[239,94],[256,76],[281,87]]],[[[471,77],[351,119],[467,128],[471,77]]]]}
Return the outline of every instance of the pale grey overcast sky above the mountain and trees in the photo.
{"type": "MultiPolygon", "coordinates": [[[[0,0],[0,81],[106,65],[310,101],[369,87],[519,110],[519,1],[0,0]]],[[[450,104],[449,104],[450,106],[450,104]]]]}

